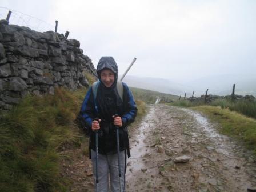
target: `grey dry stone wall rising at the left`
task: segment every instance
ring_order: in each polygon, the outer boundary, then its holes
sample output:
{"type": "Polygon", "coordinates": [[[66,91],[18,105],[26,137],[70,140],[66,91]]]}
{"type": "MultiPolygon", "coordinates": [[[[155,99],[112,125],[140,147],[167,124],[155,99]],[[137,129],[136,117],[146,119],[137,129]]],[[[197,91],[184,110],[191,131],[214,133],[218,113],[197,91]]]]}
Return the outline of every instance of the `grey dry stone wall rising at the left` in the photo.
{"type": "Polygon", "coordinates": [[[96,77],[80,43],[63,34],[31,30],[0,21],[0,109],[11,109],[27,94],[54,94],[63,86],[89,86],[84,72],[96,77]]]}

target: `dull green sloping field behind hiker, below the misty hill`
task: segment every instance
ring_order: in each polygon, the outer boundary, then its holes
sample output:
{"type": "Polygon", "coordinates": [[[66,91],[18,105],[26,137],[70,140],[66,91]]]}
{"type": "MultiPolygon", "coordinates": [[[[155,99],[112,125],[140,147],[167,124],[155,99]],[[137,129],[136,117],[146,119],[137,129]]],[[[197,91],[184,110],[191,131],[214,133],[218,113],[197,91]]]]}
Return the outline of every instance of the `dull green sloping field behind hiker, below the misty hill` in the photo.
{"type": "Polygon", "coordinates": [[[157,100],[157,97],[165,98],[167,102],[176,101],[179,99],[179,96],[177,95],[165,94],[157,91],[151,91],[151,90],[140,89],[135,87],[130,87],[130,89],[136,100],[142,100],[142,101],[145,101],[146,103],[155,103],[155,101],[157,100]]]}

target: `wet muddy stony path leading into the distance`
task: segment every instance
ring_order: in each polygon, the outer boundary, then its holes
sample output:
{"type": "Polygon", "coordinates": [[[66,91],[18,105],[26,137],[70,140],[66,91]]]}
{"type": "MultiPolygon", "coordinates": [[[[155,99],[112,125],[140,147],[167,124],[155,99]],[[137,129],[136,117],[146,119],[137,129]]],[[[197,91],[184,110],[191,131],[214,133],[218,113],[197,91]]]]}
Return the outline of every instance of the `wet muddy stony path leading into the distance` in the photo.
{"type": "Polygon", "coordinates": [[[130,128],[126,191],[256,189],[253,155],[198,112],[151,105],[130,128]]]}

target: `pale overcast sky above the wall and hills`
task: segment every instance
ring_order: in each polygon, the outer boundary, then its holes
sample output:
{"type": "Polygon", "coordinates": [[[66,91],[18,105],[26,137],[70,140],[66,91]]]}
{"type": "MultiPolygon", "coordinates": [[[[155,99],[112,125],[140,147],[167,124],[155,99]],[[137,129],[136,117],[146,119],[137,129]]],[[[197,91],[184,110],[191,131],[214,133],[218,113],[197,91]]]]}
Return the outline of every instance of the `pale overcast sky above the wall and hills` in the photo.
{"type": "Polygon", "coordinates": [[[111,55],[119,74],[134,57],[129,75],[179,82],[256,71],[254,0],[1,0],[0,6],[1,18],[7,7],[15,10],[10,23],[38,31],[54,30],[57,19],[95,67],[111,55]]]}

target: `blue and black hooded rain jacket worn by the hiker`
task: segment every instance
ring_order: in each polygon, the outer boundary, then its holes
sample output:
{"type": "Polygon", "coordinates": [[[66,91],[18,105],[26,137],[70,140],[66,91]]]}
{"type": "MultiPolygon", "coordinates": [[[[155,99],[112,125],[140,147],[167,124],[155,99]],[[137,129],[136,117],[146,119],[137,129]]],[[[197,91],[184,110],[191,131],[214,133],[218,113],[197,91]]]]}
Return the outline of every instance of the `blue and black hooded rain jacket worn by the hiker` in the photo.
{"type": "MultiPolygon", "coordinates": [[[[81,114],[90,131],[93,119],[102,119],[100,123],[101,129],[98,131],[98,150],[99,153],[104,155],[117,153],[116,127],[113,123],[114,119],[112,116],[115,114],[121,116],[123,126],[119,128],[120,151],[127,150],[129,157],[127,126],[134,121],[137,115],[137,106],[134,102],[133,95],[128,86],[122,83],[123,98],[121,99],[119,97],[117,91],[118,66],[113,57],[102,57],[99,60],[97,74],[100,83],[96,98],[94,100],[93,91],[90,87],[82,103],[81,114]],[[115,80],[111,87],[106,87],[101,82],[100,74],[103,69],[110,69],[114,73],[115,80]],[[95,106],[98,107],[98,110],[95,109],[95,106]]],[[[90,132],[90,149],[95,151],[95,133],[93,131],[90,132]]]]}

